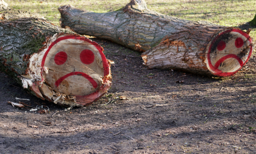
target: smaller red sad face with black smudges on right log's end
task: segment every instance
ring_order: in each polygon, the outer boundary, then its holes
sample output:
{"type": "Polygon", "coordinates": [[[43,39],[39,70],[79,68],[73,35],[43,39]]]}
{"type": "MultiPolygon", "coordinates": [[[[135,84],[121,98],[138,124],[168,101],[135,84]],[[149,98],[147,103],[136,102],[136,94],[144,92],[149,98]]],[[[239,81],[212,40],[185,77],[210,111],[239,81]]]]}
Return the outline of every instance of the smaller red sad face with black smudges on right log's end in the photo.
{"type": "Polygon", "coordinates": [[[220,33],[206,51],[209,70],[218,76],[230,76],[241,69],[252,54],[252,39],[239,29],[220,33]]]}

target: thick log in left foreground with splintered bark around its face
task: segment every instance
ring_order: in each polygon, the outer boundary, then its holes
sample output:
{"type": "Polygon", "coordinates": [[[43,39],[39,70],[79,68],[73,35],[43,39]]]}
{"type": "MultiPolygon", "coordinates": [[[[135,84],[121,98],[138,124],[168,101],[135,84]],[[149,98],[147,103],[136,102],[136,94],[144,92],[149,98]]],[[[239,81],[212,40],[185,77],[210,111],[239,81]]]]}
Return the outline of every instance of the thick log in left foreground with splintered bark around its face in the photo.
{"type": "Polygon", "coordinates": [[[86,106],[112,81],[103,48],[41,15],[0,11],[0,70],[23,88],[59,105],[86,106]]]}

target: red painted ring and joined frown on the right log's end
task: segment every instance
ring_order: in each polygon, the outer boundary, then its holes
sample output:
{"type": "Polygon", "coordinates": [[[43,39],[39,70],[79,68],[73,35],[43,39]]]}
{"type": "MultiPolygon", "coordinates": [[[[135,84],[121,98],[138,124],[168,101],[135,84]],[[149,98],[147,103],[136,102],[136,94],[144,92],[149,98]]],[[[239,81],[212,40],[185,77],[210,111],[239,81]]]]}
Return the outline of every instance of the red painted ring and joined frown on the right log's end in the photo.
{"type": "MultiPolygon", "coordinates": [[[[208,53],[207,53],[207,60],[208,60],[209,67],[210,67],[210,69],[212,70],[211,72],[212,72],[214,75],[217,75],[217,76],[227,77],[227,76],[231,76],[231,75],[237,73],[237,71],[240,70],[240,69],[245,65],[246,62],[248,62],[249,58],[250,58],[251,55],[252,55],[252,44],[251,44],[251,45],[250,45],[250,46],[251,46],[251,49],[250,49],[248,58],[245,60],[245,62],[243,62],[243,64],[241,64],[241,61],[238,60],[238,62],[239,62],[239,64],[240,64],[241,67],[240,67],[238,70],[236,70],[235,72],[222,72],[222,70],[219,70],[218,67],[216,68],[216,66],[217,66],[216,63],[217,63],[217,62],[219,62],[220,60],[223,62],[223,61],[226,60],[227,58],[222,59],[222,58],[223,58],[223,57],[222,57],[221,59],[219,59],[219,60],[215,63],[215,66],[213,66],[213,65],[211,64],[211,57],[210,57],[210,54],[211,54],[211,47],[212,47],[212,45],[214,44],[214,42],[215,42],[221,35],[223,35],[223,34],[225,34],[225,33],[229,33],[229,32],[237,32],[237,33],[240,33],[240,34],[242,34],[244,37],[246,37],[247,40],[248,40],[250,43],[252,43],[251,37],[250,37],[247,33],[245,33],[244,31],[239,30],[239,29],[229,29],[229,30],[226,30],[226,31],[224,31],[224,32],[222,32],[222,33],[220,33],[220,34],[218,34],[218,36],[215,37],[215,39],[212,41],[212,43],[211,43],[211,45],[210,45],[210,47],[209,47],[209,49],[208,49],[208,53]]],[[[232,57],[231,55],[233,55],[233,54],[229,54],[229,55],[226,55],[226,56],[230,56],[230,57],[228,57],[228,58],[235,58],[235,57],[232,57]]],[[[226,57],[226,56],[224,56],[224,57],[226,57]]],[[[238,58],[239,58],[239,57],[238,57],[238,58]]],[[[237,58],[236,58],[236,59],[237,59],[237,58]]],[[[240,58],[239,58],[239,59],[240,59],[240,58]]],[[[241,60],[241,59],[240,59],[240,60],[241,60]]],[[[221,61],[220,61],[220,63],[221,63],[221,61]]],[[[220,65],[220,63],[219,63],[219,65],[220,65]]],[[[218,65],[218,66],[219,66],[219,65],[218,65]]]]}

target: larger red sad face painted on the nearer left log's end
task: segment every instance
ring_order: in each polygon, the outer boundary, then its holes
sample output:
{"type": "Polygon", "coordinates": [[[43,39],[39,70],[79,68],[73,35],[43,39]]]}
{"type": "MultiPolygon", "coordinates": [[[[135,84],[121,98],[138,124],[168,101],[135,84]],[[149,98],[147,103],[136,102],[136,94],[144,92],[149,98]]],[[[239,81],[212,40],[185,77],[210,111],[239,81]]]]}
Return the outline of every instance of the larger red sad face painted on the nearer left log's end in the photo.
{"type": "Polygon", "coordinates": [[[41,66],[49,68],[45,82],[66,95],[97,92],[109,64],[102,49],[84,37],[63,36],[45,52],[41,66]]]}

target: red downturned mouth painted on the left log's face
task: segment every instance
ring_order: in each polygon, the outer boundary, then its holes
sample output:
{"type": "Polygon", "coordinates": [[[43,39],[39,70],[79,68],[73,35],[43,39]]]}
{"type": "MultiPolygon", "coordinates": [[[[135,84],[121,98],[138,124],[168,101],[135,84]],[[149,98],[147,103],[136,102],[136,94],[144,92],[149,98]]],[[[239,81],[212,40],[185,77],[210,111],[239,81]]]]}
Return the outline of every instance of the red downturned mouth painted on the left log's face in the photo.
{"type": "Polygon", "coordinates": [[[92,84],[92,86],[94,88],[97,88],[98,87],[98,84],[96,81],[93,80],[92,77],[90,77],[89,75],[87,75],[86,73],[83,73],[83,72],[72,72],[72,73],[68,73],[66,75],[64,75],[63,77],[60,77],[56,82],[55,82],[55,86],[58,87],[60,85],[60,83],[62,81],[64,81],[65,78],[67,77],[70,77],[72,75],[80,75],[80,76],[83,76],[85,77],[88,81],[90,81],[90,83],[92,84]]]}

